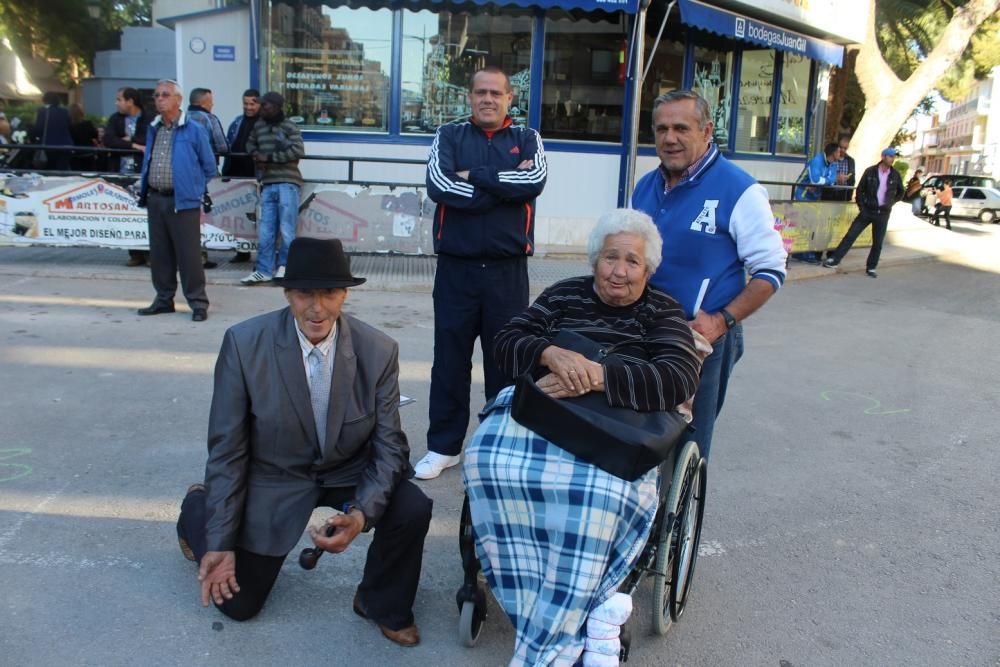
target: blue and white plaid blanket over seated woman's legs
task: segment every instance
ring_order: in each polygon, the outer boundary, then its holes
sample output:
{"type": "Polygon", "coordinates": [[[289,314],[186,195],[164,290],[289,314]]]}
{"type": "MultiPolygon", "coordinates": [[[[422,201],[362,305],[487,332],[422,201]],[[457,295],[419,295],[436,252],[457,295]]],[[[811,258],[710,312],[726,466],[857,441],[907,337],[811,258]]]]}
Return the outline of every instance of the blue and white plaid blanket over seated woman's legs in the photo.
{"type": "Polygon", "coordinates": [[[510,416],[500,392],[465,448],[476,552],[516,631],[511,665],[572,665],[587,614],[631,570],[656,514],[658,470],[627,482],[510,416]]]}

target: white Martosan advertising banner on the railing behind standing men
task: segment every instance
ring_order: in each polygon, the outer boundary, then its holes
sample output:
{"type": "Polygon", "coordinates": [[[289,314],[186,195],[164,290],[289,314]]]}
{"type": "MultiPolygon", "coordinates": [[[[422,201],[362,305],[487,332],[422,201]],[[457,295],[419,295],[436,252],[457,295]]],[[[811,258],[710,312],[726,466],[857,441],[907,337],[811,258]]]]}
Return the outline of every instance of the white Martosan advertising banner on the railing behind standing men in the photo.
{"type": "MultiPolygon", "coordinates": [[[[0,175],[0,245],[148,248],[146,210],[131,188],[131,179],[0,175]]],[[[257,184],[214,179],[208,191],[202,245],[255,250],[257,184]]],[[[434,252],[433,203],[421,190],[307,183],[301,195],[298,235],[338,238],[351,252],[434,252]]]]}

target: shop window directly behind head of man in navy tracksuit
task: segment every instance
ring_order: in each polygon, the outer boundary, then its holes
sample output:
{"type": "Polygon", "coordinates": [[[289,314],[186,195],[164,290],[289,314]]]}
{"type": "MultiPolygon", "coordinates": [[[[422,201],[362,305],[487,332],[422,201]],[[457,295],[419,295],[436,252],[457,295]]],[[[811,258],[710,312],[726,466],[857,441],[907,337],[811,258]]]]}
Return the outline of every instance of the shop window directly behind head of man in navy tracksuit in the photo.
{"type": "Polygon", "coordinates": [[[466,12],[403,12],[403,132],[433,133],[466,118],[469,81],[488,65],[510,78],[510,115],[527,124],[532,18],[466,12]]]}

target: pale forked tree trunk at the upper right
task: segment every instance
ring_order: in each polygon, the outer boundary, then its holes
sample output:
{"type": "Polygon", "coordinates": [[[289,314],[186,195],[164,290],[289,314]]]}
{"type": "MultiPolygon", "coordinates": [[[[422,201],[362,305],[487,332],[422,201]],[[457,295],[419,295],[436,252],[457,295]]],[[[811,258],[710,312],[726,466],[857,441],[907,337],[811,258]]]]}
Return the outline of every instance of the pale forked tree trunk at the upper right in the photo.
{"type": "MultiPolygon", "coordinates": [[[[868,36],[861,45],[855,74],[867,100],[851,140],[858,171],[878,162],[896,131],[965,51],[979,26],[1000,8],[1000,0],[970,0],[955,11],[941,41],[906,81],[886,64],[875,33],[875,2],[868,13],[868,36]]],[[[859,174],[860,176],[860,174],[859,174]]]]}

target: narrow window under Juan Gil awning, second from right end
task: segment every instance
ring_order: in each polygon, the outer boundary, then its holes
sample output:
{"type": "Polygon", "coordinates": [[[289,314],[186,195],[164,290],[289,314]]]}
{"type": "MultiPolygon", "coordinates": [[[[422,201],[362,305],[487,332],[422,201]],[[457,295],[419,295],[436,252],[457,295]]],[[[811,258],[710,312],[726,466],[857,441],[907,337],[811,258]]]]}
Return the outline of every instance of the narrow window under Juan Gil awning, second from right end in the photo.
{"type": "Polygon", "coordinates": [[[774,91],[774,51],[743,52],[740,108],[736,117],[736,150],[767,153],[771,141],[771,94],[774,91]]]}

